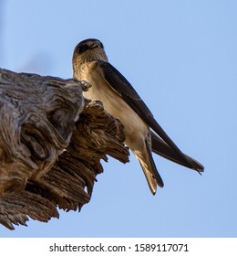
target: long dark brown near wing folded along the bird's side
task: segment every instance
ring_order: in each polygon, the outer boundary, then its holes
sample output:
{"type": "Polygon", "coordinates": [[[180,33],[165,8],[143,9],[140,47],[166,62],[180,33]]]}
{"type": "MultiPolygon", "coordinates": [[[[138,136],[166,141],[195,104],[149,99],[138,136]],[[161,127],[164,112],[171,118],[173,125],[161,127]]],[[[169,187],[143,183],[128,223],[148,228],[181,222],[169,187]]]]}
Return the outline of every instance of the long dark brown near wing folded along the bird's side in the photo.
{"type": "Polygon", "coordinates": [[[128,80],[111,64],[105,61],[98,61],[98,65],[101,67],[104,73],[105,80],[108,81],[111,89],[116,91],[118,95],[120,95],[124,101],[126,101],[129,106],[133,109],[134,112],[137,112],[139,117],[149,125],[149,127],[157,133],[160,138],[170,146],[172,150],[175,151],[177,155],[180,155],[180,159],[186,166],[196,169],[195,166],[192,165],[191,161],[184,155],[178,146],[174,144],[174,142],[170,139],[167,133],[160,127],[160,124],[156,122],[152,113],[149,111],[147,105],[140,99],[139,94],[134,88],[131,86],[128,80]]]}

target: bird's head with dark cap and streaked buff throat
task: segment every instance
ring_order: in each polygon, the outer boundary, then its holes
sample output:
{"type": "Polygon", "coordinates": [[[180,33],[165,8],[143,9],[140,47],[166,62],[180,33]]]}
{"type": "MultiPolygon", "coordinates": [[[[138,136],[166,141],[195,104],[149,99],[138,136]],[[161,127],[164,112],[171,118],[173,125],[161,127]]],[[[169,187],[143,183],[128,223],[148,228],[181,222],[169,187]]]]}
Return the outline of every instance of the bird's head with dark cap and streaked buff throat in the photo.
{"type": "Polygon", "coordinates": [[[103,44],[94,38],[78,43],[73,53],[73,64],[81,65],[94,60],[108,61],[103,44]]]}

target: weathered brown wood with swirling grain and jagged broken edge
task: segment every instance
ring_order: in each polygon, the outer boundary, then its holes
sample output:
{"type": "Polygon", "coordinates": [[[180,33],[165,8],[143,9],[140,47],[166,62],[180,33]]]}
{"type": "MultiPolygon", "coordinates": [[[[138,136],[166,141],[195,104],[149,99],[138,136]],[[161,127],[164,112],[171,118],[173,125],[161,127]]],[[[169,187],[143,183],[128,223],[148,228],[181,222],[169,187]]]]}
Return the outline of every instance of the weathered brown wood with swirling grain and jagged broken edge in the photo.
{"type": "Polygon", "coordinates": [[[0,69],[0,223],[58,218],[88,203],[107,155],[129,161],[123,127],[85,82],[0,69]]]}

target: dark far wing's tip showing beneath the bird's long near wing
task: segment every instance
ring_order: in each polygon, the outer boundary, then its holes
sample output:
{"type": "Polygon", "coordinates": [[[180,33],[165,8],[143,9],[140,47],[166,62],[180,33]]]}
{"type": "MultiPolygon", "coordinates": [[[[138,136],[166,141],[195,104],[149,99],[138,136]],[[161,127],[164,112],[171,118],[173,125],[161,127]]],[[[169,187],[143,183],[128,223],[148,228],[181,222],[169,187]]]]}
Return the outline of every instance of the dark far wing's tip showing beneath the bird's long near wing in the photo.
{"type": "Polygon", "coordinates": [[[152,144],[152,151],[158,155],[161,155],[179,165],[186,166],[188,168],[191,168],[193,170],[198,171],[199,173],[204,171],[204,166],[201,165],[197,160],[193,159],[189,155],[185,155],[185,157],[189,160],[190,165],[187,165],[187,162],[183,161],[183,158],[180,157],[179,154],[177,154],[170,145],[166,144],[163,140],[160,139],[160,137],[156,134],[151,132],[151,144],[152,144]]]}

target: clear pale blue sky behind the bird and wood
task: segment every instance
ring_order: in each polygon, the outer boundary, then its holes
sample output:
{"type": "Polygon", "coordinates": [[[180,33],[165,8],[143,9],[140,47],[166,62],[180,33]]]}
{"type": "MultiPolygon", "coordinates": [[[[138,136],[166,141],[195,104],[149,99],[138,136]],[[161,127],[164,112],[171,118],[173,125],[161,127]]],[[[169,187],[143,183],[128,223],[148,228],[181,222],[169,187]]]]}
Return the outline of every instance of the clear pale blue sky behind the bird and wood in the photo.
{"type": "Polygon", "coordinates": [[[111,158],[80,213],[1,237],[237,237],[237,1],[0,0],[0,67],[72,77],[72,53],[100,39],[202,176],[155,155],[155,197],[136,158],[111,158]]]}

